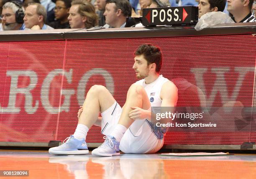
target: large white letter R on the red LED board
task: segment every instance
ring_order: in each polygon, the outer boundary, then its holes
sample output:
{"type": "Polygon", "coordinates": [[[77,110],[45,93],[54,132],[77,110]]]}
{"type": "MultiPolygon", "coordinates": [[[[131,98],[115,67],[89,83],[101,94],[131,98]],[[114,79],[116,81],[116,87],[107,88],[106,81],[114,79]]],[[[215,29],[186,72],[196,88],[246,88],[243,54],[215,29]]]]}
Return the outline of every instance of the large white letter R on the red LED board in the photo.
{"type": "Polygon", "coordinates": [[[25,111],[28,114],[33,114],[38,109],[39,101],[35,102],[33,107],[33,97],[31,90],[36,87],[37,84],[37,74],[31,70],[17,70],[17,71],[7,71],[7,76],[11,77],[10,82],[10,94],[8,100],[8,107],[0,107],[2,113],[19,113],[20,108],[15,107],[17,94],[25,95],[25,111]],[[30,83],[27,87],[18,87],[18,78],[20,76],[26,76],[30,78],[30,83]]]}

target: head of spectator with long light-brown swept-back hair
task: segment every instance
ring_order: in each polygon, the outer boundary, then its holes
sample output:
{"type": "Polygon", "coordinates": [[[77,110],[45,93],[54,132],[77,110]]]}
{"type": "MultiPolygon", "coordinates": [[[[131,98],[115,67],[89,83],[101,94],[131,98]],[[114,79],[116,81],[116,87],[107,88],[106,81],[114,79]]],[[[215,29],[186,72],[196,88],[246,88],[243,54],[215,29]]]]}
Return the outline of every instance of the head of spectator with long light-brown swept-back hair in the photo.
{"type": "Polygon", "coordinates": [[[98,24],[95,8],[87,0],[72,1],[68,20],[71,28],[92,28],[98,24]]]}

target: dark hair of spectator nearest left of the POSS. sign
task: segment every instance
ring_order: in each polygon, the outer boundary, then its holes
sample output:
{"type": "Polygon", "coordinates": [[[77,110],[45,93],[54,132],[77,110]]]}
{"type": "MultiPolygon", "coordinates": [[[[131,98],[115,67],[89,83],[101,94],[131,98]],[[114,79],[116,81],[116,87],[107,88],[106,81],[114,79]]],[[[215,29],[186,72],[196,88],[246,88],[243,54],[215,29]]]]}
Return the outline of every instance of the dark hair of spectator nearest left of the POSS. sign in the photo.
{"type": "Polygon", "coordinates": [[[122,10],[125,17],[131,17],[132,7],[128,0],[106,0],[106,4],[115,3],[115,10],[122,10]]]}

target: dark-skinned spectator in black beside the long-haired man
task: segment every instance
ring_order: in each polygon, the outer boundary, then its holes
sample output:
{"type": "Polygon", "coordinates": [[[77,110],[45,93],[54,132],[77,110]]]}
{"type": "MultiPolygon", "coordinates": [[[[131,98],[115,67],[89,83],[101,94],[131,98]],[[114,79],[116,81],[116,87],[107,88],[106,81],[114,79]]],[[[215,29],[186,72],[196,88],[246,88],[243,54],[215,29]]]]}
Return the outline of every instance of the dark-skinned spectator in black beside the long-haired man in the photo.
{"type": "Polygon", "coordinates": [[[71,0],[57,0],[56,7],[54,8],[55,18],[53,22],[48,25],[52,28],[70,28],[69,20],[69,9],[71,7],[71,0]]]}

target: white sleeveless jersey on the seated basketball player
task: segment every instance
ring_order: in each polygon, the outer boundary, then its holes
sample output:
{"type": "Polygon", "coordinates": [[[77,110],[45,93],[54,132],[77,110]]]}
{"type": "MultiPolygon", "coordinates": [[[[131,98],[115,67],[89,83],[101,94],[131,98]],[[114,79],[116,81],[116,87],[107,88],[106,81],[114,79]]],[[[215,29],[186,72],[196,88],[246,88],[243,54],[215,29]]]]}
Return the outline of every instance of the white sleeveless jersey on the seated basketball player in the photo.
{"type": "Polygon", "coordinates": [[[145,91],[147,92],[151,107],[161,107],[162,100],[160,98],[160,92],[163,84],[168,81],[169,79],[163,77],[163,75],[159,75],[159,77],[150,84],[146,84],[145,79],[141,79],[135,84],[140,84],[144,87],[145,91]]]}

